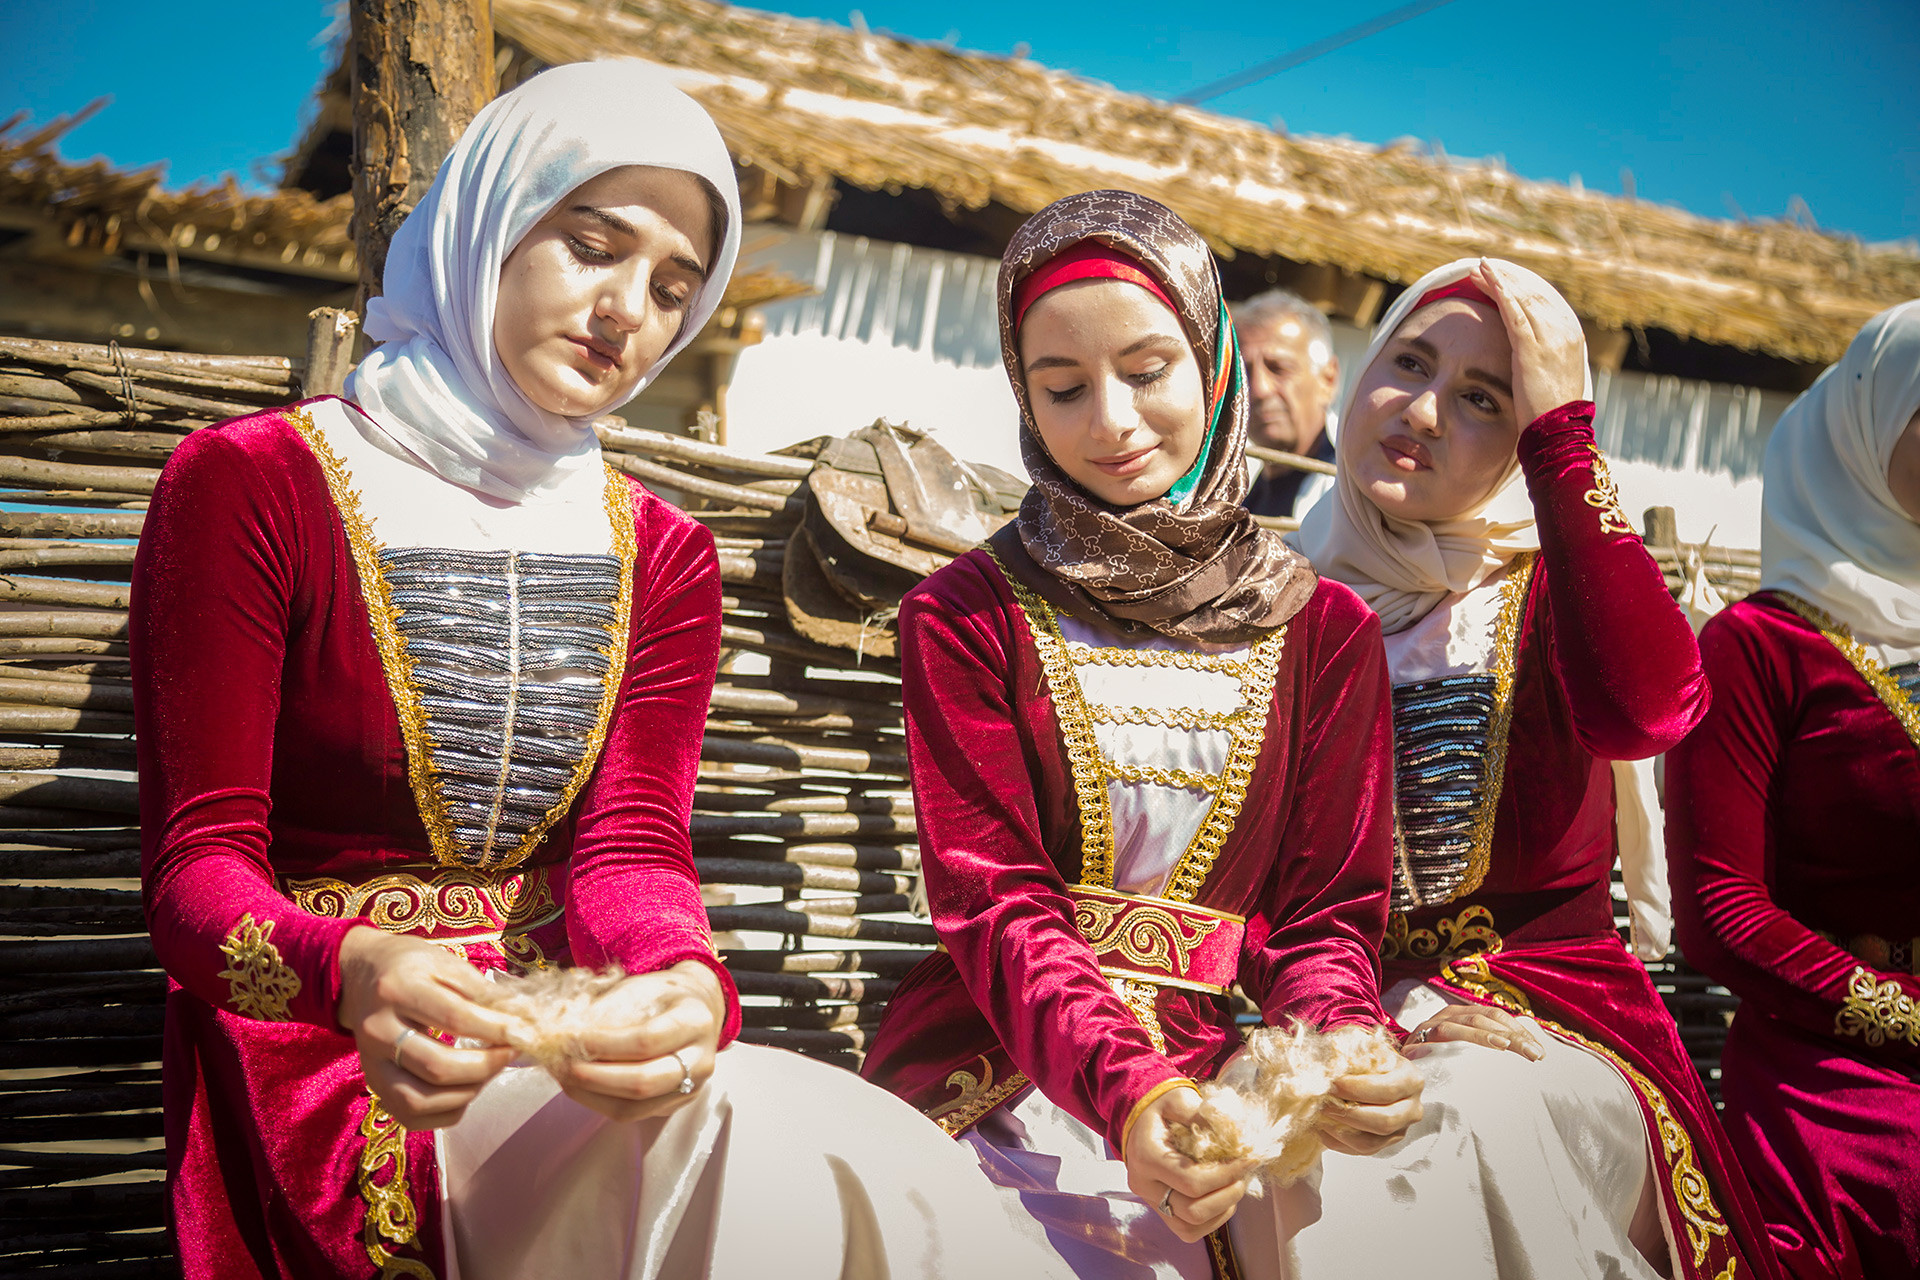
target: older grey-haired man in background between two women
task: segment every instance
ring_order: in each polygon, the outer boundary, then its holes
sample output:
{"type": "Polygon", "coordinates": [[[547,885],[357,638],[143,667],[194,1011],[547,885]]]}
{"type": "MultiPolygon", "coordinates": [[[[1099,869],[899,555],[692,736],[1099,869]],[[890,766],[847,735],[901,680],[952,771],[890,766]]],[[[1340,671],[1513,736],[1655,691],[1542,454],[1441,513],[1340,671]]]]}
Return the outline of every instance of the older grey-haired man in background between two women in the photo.
{"type": "MultiPolygon", "coordinates": [[[[1332,393],[1340,361],[1319,307],[1286,290],[1267,290],[1233,307],[1246,357],[1248,439],[1269,449],[1332,462],[1332,393]]],[[[1267,462],[1246,493],[1256,516],[1302,516],[1332,487],[1332,476],[1267,462]]]]}

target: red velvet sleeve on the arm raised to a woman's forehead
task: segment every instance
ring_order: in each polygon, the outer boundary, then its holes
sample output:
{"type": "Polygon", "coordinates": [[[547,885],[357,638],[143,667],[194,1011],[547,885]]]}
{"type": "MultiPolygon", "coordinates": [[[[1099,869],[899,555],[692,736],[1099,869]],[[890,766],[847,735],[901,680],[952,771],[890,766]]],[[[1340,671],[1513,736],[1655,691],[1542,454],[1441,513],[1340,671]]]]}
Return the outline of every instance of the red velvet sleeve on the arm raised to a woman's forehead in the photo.
{"type": "Polygon", "coordinates": [[[1613,482],[1594,474],[1594,405],[1542,415],[1521,434],[1519,457],[1574,735],[1601,760],[1657,756],[1699,723],[1711,689],[1693,629],[1640,535],[1607,528],[1626,518],[1613,482]]]}

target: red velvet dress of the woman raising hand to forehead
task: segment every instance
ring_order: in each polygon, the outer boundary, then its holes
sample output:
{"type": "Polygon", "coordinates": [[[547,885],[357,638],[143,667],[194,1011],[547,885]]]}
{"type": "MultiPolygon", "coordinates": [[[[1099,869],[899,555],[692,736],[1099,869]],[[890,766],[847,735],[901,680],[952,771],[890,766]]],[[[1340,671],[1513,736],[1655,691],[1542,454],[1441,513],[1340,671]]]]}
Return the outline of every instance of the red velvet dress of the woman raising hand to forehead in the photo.
{"type": "MultiPolygon", "coordinates": [[[[1526,1009],[1597,1050],[1640,1102],[1676,1272],[1772,1274],[1751,1192],[1645,967],[1613,923],[1611,760],[1670,748],[1707,710],[1686,618],[1619,510],[1592,405],[1521,436],[1540,532],[1511,647],[1511,727],[1484,877],[1440,906],[1394,913],[1386,984],[1423,979],[1526,1009]],[[1726,1268],[1743,1259],[1738,1272],[1726,1268]]],[[[1519,576],[1509,570],[1509,578],[1519,576]]],[[[1496,658],[1498,664],[1498,658],[1496,658]]]]}

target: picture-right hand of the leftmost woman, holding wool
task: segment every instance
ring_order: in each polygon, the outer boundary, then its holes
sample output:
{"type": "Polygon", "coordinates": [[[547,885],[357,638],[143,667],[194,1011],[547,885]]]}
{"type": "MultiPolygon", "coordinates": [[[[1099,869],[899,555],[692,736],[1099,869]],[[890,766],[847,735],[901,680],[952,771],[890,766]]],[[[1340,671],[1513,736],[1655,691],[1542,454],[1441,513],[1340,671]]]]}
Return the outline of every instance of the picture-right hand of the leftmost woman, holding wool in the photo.
{"type": "Polygon", "coordinates": [[[641,1121],[684,1105],[693,1090],[682,1094],[682,1080],[699,1088],[714,1073],[726,994],[697,960],[636,973],[593,1009],[601,1025],[586,1036],[589,1061],[559,1073],[574,1102],[616,1121],[641,1121]]]}

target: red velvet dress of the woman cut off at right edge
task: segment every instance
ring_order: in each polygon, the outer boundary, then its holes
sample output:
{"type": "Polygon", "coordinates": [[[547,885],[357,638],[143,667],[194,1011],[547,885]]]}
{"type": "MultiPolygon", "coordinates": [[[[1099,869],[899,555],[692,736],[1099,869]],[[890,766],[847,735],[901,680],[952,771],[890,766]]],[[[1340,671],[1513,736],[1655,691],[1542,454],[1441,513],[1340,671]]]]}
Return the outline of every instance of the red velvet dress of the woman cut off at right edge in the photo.
{"type": "Polygon", "coordinates": [[[1741,1002],[1728,1132],[1793,1276],[1920,1274],[1920,750],[1772,593],[1701,651],[1667,839],[1680,944],[1741,1002]]]}

